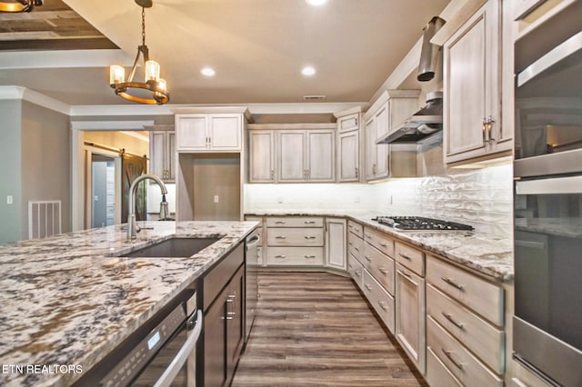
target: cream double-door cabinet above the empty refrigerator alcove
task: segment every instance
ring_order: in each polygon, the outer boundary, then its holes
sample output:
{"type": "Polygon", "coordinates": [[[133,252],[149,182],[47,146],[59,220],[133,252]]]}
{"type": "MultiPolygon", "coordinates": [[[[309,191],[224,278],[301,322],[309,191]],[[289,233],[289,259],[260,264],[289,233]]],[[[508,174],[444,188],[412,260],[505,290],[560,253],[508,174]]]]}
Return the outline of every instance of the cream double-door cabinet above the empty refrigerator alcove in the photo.
{"type": "Polygon", "coordinates": [[[176,149],[186,152],[242,150],[243,114],[176,114],[176,149]]]}

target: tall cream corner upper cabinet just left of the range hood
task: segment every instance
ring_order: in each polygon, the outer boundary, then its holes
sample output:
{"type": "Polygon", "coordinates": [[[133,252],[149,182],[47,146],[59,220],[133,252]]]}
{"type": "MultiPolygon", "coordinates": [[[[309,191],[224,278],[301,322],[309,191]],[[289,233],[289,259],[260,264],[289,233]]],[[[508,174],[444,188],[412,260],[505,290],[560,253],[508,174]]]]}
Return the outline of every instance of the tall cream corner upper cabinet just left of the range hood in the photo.
{"type": "Polygon", "coordinates": [[[360,123],[361,108],[353,108],[334,114],[337,118],[336,174],[337,182],[360,180],[360,123]]]}

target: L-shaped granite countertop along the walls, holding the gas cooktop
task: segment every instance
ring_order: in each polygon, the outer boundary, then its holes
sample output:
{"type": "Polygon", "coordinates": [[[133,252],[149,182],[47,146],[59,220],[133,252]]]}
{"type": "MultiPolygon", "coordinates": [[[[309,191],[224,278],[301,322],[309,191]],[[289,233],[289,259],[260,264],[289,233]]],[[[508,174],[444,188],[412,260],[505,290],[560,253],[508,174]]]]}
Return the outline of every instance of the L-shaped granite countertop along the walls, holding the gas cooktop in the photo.
{"type": "MultiPolygon", "coordinates": [[[[246,216],[337,216],[390,234],[497,281],[513,280],[513,242],[477,232],[401,232],[372,221],[377,213],[247,213],[246,216]]],[[[446,219],[445,219],[446,220],[446,219]]]]}

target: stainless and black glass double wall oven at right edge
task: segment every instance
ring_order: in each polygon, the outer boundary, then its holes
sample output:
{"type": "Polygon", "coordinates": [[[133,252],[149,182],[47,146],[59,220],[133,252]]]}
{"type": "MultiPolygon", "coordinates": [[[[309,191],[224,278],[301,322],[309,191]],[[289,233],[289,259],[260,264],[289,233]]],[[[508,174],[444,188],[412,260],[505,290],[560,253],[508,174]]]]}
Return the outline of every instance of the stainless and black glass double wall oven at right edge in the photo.
{"type": "Polygon", "coordinates": [[[521,3],[513,357],[552,385],[580,386],[582,1],[521,3]]]}

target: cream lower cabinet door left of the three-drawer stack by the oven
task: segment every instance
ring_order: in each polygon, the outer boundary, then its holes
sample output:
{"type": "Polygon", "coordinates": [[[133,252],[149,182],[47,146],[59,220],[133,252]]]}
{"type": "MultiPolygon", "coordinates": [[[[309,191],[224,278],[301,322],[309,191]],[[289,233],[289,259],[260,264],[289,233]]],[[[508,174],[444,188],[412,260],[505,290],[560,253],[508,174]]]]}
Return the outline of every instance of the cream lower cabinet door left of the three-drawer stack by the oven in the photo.
{"type": "Polygon", "coordinates": [[[396,339],[425,373],[425,280],[396,263],[396,339]]]}

